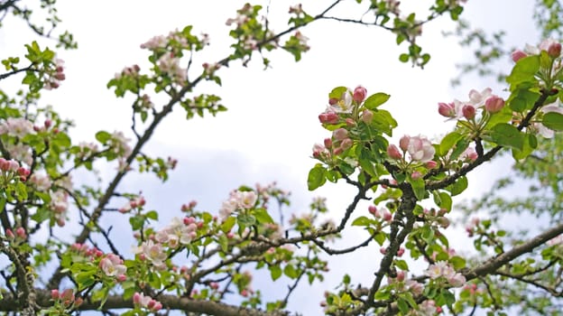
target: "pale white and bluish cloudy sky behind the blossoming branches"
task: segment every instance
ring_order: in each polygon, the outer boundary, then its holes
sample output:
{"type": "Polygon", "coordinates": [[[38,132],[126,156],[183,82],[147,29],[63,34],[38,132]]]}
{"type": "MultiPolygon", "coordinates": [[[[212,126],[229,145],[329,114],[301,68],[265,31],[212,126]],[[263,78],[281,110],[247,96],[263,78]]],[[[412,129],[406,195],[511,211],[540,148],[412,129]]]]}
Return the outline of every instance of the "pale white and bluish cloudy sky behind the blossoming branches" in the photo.
{"type": "MultiPolygon", "coordinates": [[[[304,9],[314,15],[330,3],[309,2],[304,4],[304,9]]],[[[413,8],[428,7],[429,3],[417,1],[413,8]]],[[[133,0],[60,0],[58,8],[63,20],[60,29],[69,29],[75,35],[78,50],[60,51],[67,79],[59,89],[45,92],[43,99],[54,105],[63,117],[71,117],[76,122],[72,135],[77,143],[94,140],[98,130],[129,133],[131,99],[116,99],[113,91],[106,88],[106,82],[116,72],[133,64],[148,70],[147,51],[141,50],[139,45],[154,35],[167,34],[188,24],[194,25],[195,33],[208,33],[211,41],[210,46],[195,57],[194,64],[222,59],[231,44],[226,19],[234,17],[235,10],[244,4],[243,1],[218,0],[165,0],[158,5],[133,0]]],[[[267,5],[267,2],[257,1],[256,4],[267,5]]],[[[293,4],[272,1],[270,18],[274,31],[284,29],[287,10],[293,4]]],[[[471,0],[464,15],[485,29],[509,30],[511,45],[523,46],[526,42],[539,42],[529,16],[531,5],[532,1],[514,7],[510,0],[471,0]],[[511,8],[511,14],[499,16],[507,7],[511,8]]],[[[354,1],[348,1],[337,7],[337,14],[356,17],[362,12],[355,9],[354,1]]],[[[143,191],[147,207],[159,210],[162,226],[172,216],[180,215],[180,205],[189,200],[198,200],[200,209],[217,211],[228,192],[239,185],[271,181],[277,181],[282,189],[292,192],[292,206],[286,209],[286,215],[305,211],[315,196],[326,196],[330,216],[339,220],[354,194],[352,188],[339,182],[318,191],[307,191],[307,174],[315,164],[310,158],[312,145],[328,136],[318,124],[317,116],[327,106],[328,92],[332,88],[362,85],[369,94],[380,91],[390,94],[392,98],[383,108],[391,111],[399,123],[393,135],[395,142],[403,134],[438,137],[451,129],[453,126],[438,116],[438,102],[466,99],[471,88],[481,90],[487,86],[505,95],[504,87],[494,81],[471,76],[460,87],[450,86],[449,80],[458,71],[455,64],[470,56],[455,38],[442,35],[442,31],[451,31],[453,27],[446,18],[424,26],[420,45],[431,54],[432,60],[420,70],[398,60],[405,48],[394,44],[391,33],[329,21],[313,23],[301,31],[309,37],[311,50],[299,63],[288,53],[273,52],[269,55],[272,69],[264,71],[258,58],[248,68],[235,62],[218,73],[223,87],[208,84],[198,87],[198,92],[216,93],[223,98],[228,112],[186,121],[183,110],[177,108],[164,120],[145,152],[163,157],[170,155],[179,160],[169,181],[161,185],[151,176],[132,176],[125,179],[119,189],[143,191]]],[[[1,57],[23,54],[23,44],[32,39],[36,38],[23,23],[7,18],[4,28],[0,29],[1,57]]],[[[46,40],[39,42],[54,46],[46,40]]],[[[508,64],[509,57],[506,60],[508,64]]],[[[20,79],[9,80],[3,80],[2,84],[15,88],[20,79]]],[[[477,196],[490,187],[494,177],[508,171],[506,162],[485,165],[471,175],[469,189],[462,198],[477,196]]],[[[104,168],[101,176],[106,180],[112,172],[113,167],[104,168]]],[[[90,180],[78,174],[75,183],[90,180]]],[[[366,212],[366,204],[357,209],[356,214],[362,212],[366,212]]],[[[117,228],[128,227],[123,217],[106,216],[102,221],[117,228]]],[[[64,233],[71,235],[73,228],[64,233]]],[[[363,236],[362,231],[351,230],[338,246],[346,246],[363,236]]],[[[454,244],[463,246],[463,238],[454,244]]],[[[335,288],[344,273],[351,274],[353,282],[367,279],[371,283],[374,267],[381,258],[377,249],[369,247],[351,256],[331,257],[327,281],[312,287],[303,283],[290,300],[290,310],[305,315],[320,314],[318,302],[322,300],[324,289],[335,288]],[[352,266],[350,262],[362,264],[352,266]]],[[[263,277],[256,282],[268,283],[268,276],[263,277]]],[[[279,288],[281,293],[275,297],[284,295],[285,287],[280,284],[279,288]]]]}

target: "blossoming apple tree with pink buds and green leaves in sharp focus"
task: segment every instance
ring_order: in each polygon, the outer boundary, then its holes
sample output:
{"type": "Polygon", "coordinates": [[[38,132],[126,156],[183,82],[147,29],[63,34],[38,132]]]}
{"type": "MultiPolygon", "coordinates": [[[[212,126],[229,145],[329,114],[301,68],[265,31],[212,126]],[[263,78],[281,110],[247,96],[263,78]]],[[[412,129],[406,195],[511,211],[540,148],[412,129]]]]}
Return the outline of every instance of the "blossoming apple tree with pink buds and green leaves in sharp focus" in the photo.
{"type": "MultiPolygon", "coordinates": [[[[227,21],[233,51],[200,69],[190,56],[202,53],[209,39],[194,34],[191,26],[144,42],[141,48],[151,69],[127,66],[107,83],[117,98],[134,96],[133,141],[122,132],[99,131],[95,142],[76,143],[69,135],[70,122],[41,105],[42,90],[56,89],[66,79],[54,51],[32,42],[26,45],[26,65],[18,57],[3,60],[6,72],[0,79],[24,73],[26,87],[15,96],[0,94],[0,311],[283,315],[289,313],[288,301],[300,283],[323,280],[328,271],[325,255],[346,256],[364,246],[381,253],[374,274],[364,284],[343,275],[337,289],[319,302],[325,313],[472,314],[477,308],[501,313],[519,299],[528,302],[526,293],[518,293],[528,285],[550,295],[543,303],[543,311],[550,311],[551,300],[561,296],[560,221],[511,245],[506,231],[495,229],[492,220],[474,219],[466,229],[481,258],[457,254],[444,232],[457,211],[452,197],[466,189],[469,172],[503,152],[525,162],[528,157],[550,159],[544,153],[560,148],[541,140],[563,130],[558,103],[563,96],[561,44],[553,40],[512,53],[508,98],[485,88],[469,91],[461,101],[439,103],[437,115],[455,121],[456,127],[438,140],[403,135],[390,141],[397,122],[392,109],[383,108],[390,98],[384,92],[368,93],[361,86],[329,91],[328,107],[318,116],[329,134],[313,147],[316,164],[308,186],[313,191],[327,181],[339,181],[355,188],[337,224],[318,223],[319,214],[327,212],[323,199],[313,200],[307,214],[274,220],[272,203],[289,205],[289,197],[273,185],[237,188],[215,211],[198,209],[195,201],[186,203],[169,223],[160,223],[158,211],[144,208],[141,194],[117,191],[133,172],[152,172],[166,181],[178,162],[152,157],[143,152],[144,146],[174,107],[182,107],[188,119],[225,111],[221,98],[199,93],[198,85],[206,80],[220,85],[221,71],[235,61],[247,64],[260,52],[267,66],[267,51],[278,49],[300,60],[309,50],[301,29],[319,20],[337,20],[395,33],[397,42],[408,43],[400,60],[424,66],[429,54],[416,42],[421,25],[444,14],[457,20],[463,11],[463,2],[437,0],[429,16],[418,20],[415,14],[402,15],[397,1],[358,0],[372,19],[353,20],[330,15],[341,2],[316,15],[301,5],[291,6],[288,28],[281,33],[272,31],[262,6],[244,5],[227,21]],[[157,95],[167,102],[153,102],[157,95]],[[118,163],[105,188],[72,181],[75,172],[95,172],[95,164],[105,162],[118,163]],[[110,209],[115,200],[122,206],[110,209]],[[370,200],[369,208],[358,209],[361,200],[370,200]],[[133,256],[126,256],[100,223],[111,210],[130,223],[133,256]],[[73,240],[61,240],[56,231],[69,225],[69,212],[78,213],[81,230],[73,240]],[[350,227],[363,228],[365,240],[347,248],[329,246],[350,227]],[[48,240],[32,238],[45,231],[48,240]],[[37,274],[47,265],[56,268],[48,283],[38,283],[37,274]],[[253,272],[261,269],[268,271],[274,286],[280,278],[291,280],[288,289],[281,288],[281,298],[264,297],[253,287],[253,272]],[[509,294],[503,298],[504,293],[509,294]]],[[[42,1],[50,15],[47,21],[55,27],[60,20],[51,15],[56,14],[53,5],[42,1]]],[[[33,11],[18,1],[3,2],[0,12],[22,16],[34,32],[51,37],[51,31],[31,22],[33,11]]],[[[76,46],[69,33],[56,41],[66,48],[76,46]]],[[[559,182],[551,179],[549,184],[559,182]]]]}

